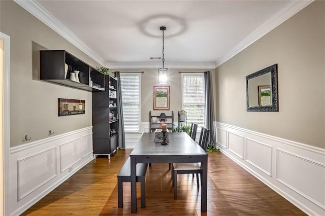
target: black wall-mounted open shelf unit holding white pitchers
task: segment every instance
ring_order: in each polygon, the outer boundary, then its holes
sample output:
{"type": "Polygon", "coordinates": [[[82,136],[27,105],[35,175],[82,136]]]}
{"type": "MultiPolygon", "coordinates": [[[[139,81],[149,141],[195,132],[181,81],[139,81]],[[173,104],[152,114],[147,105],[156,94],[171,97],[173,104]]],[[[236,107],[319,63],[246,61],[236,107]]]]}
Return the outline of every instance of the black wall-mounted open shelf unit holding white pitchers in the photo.
{"type": "Polygon", "coordinates": [[[105,75],[67,51],[41,50],[40,56],[41,80],[86,91],[105,91],[105,75]],[[79,73],[74,73],[74,70],[79,73]],[[78,76],[76,81],[72,75],[78,76]]]}

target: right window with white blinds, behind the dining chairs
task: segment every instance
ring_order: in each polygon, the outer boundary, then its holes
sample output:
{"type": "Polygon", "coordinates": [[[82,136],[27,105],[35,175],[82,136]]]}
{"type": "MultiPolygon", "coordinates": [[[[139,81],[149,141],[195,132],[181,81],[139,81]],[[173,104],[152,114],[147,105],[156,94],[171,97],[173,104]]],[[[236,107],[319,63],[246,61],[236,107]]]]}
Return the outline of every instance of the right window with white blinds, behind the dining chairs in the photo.
{"type": "Polygon", "coordinates": [[[204,74],[182,73],[182,107],[187,114],[187,123],[193,122],[199,128],[204,127],[204,74]]]}

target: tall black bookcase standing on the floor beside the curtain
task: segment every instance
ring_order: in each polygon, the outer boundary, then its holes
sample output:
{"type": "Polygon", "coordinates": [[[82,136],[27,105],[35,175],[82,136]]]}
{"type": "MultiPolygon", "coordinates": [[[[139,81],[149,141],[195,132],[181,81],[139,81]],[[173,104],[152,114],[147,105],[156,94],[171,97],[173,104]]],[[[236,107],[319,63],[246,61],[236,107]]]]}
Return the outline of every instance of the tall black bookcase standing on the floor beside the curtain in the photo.
{"type": "Polygon", "coordinates": [[[117,79],[105,76],[105,92],[92,93],[93,155],[110,155],[118,147],[117,79]]]}

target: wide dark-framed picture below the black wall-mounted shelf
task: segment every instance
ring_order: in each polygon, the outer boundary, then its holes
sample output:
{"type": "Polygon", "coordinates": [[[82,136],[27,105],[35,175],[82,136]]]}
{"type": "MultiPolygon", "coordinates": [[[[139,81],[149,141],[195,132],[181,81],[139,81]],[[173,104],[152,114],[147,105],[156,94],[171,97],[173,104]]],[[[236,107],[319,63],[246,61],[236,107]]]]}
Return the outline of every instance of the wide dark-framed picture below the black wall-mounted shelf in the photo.
{"type": "Polygon", "coordinates": [[[58,116],[85,114],[85,101],[78,99],[57,98],[58,116]]]}

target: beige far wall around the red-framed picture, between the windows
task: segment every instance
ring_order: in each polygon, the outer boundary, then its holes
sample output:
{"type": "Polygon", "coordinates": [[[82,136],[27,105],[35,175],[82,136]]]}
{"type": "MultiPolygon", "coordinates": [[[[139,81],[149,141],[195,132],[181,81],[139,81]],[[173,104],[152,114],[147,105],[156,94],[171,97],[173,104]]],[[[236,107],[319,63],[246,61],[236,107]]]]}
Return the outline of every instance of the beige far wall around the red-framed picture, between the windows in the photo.
{"type": "MultiPolygon", "coordinates": [[[[158,69],[114,69],[123,72],[140,72],[141,75],[141,121],[148,122],[149,111],[152,115],[159,115],[166,113],[171,115],[174,111],[174,121],[177,121],[177,112],[182,109],[182,91],[181,91],[181,74],[182,72],[204,72],[211,71],[211,80],[215,80],[214,69],[169,69],[168,70],[168,84],[161,85],[158,83],[158,69]],[[153,111],[153,86],[170,86],[170,110],[169,111],[153,111]]],[[[176,124],[175,124],[176,125],[176,124]]]]}

